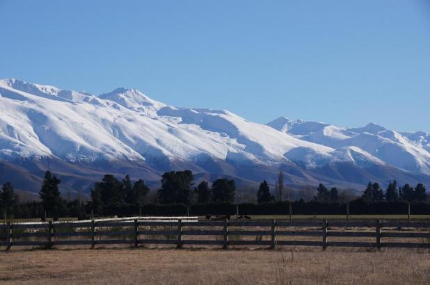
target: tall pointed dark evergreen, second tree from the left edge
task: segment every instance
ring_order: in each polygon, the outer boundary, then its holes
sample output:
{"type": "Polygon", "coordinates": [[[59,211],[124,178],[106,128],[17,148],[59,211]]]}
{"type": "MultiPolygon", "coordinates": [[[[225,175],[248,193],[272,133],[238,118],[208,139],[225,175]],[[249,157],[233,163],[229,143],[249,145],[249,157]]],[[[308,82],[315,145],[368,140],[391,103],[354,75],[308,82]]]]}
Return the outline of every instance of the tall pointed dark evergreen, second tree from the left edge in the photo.
{"type": "Polygon", "coordinates": [[[42,188],[39,192],[43,209],[45,209],[48,215],[56,217],[65,211],[65,202],[58,190],[58,185],[60,183],[61,180],[55,175],[52,176],[51,172],[48,170],[45,172],[45,179],[43,179],[42,188]]]}

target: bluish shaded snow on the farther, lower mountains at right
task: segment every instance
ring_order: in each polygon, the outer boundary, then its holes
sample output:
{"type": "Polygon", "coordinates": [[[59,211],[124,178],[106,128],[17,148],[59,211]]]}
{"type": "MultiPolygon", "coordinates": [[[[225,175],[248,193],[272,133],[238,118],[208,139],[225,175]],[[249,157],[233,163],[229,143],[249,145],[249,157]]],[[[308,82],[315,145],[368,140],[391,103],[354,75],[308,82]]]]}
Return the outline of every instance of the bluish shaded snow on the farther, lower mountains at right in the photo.
{"type": "Polygon", "coordinates": [[[430,174],[430,153],[425,133],[401,133],[369,123],[360,128],[336,127],[320,122],[288,120],[280,117],[268,125],[319,145],[334,149],[356,147],[379,161],[411,172],[430,174]],[[283,122],[283,124],[282,124],[283,122]],[[413,140],[415,138],[415,140],[413,140]]]}

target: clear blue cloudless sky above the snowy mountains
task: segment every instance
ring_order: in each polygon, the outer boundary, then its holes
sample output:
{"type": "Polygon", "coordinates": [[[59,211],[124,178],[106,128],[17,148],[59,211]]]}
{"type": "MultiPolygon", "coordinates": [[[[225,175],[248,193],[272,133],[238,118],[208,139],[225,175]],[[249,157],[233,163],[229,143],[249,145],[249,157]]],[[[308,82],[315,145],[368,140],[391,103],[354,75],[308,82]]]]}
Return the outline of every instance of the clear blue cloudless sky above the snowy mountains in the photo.
{"type": "Polygon", "coordinates": [[[430,1],[0,0],[0,78],[430,132],[430,1]]]}

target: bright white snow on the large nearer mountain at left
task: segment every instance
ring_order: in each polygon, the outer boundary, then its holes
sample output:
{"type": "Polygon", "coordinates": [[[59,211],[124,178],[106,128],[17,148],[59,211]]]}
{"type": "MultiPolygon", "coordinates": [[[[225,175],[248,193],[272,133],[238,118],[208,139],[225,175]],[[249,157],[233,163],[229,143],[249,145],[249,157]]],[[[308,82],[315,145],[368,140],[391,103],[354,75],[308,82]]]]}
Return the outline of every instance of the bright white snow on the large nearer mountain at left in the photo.
{"type": "Polygon", "coordinates": [[[70,91],[74,96],[66,99],[58,88],[6,79],[0,94],[3,157],[12,152],[74,162],[215,158],[271,164],[287,162],[283,154],[295,147],[333,151],[228,111],[166,106],[135,89],[99,97],[70,91]]]}

